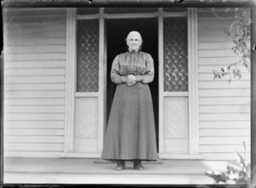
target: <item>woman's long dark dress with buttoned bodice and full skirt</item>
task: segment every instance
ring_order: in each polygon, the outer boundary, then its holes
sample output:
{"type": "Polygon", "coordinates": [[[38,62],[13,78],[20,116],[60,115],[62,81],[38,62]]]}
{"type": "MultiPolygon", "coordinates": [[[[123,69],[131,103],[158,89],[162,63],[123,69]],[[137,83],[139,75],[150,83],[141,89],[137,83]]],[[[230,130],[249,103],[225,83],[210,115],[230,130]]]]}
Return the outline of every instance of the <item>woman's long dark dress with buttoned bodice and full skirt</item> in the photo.
{"type": "Polygon", "coordinates": [[[154,79],[154,60],[144,52],[126,52],[113,60],[111,80],[117,83],[102,158],[106,160],[157,160],[154,112],[148,87],[154,79]],[[127,76],[137,83],[127,85],[127,76]]]}

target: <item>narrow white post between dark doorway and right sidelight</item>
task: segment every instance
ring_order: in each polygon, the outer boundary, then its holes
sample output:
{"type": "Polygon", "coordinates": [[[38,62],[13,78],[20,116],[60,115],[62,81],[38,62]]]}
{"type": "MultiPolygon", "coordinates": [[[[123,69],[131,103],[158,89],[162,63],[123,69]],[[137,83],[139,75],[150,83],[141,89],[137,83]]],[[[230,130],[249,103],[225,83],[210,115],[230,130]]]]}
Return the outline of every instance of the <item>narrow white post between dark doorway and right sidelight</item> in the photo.
{"type": "Polygon", "coordinates": [[[164,17],[159,8],[158,17],[158,53],[159,53],[159,154],[165,152],[164,145],[164,17]]]}

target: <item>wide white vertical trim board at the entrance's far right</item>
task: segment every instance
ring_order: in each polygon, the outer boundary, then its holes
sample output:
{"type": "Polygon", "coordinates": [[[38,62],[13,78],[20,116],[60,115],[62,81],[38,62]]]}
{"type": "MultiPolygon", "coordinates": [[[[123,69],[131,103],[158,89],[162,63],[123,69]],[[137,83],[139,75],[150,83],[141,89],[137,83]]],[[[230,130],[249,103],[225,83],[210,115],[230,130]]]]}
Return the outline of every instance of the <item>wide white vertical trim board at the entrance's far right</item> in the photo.
{"type": "Polygon", "coordinates": [[[199,153],[197,9],[188,9],[189,154],[199,153]]]}

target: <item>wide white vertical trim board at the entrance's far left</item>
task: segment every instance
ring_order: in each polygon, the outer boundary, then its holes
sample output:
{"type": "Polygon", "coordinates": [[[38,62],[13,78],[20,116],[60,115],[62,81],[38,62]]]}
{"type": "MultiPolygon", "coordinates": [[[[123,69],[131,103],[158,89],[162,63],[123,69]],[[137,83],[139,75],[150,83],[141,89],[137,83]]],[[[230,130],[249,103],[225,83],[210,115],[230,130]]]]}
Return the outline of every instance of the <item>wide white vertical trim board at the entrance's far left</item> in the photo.
{"type": "Polygon", "coordinates": [[[66,113],[64,152],[73,152],[74,95],[76,70],[76,9],[67,8],[66,113]]]}

